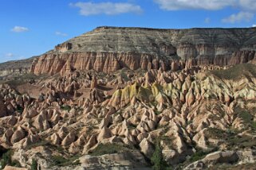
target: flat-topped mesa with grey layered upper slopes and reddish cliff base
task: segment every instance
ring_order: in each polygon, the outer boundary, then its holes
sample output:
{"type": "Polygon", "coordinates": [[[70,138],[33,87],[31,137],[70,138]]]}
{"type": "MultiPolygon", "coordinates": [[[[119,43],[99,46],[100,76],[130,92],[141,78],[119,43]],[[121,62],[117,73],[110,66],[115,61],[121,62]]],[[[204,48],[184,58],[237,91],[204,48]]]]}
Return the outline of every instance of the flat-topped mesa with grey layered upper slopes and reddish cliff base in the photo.
{"type": "Polygon", "coordinates": [[[73,70],[177,70],[256,60],[256,29],[142,29],[99,27],[58,44],[33,60],[36,75],[73,70]]]}

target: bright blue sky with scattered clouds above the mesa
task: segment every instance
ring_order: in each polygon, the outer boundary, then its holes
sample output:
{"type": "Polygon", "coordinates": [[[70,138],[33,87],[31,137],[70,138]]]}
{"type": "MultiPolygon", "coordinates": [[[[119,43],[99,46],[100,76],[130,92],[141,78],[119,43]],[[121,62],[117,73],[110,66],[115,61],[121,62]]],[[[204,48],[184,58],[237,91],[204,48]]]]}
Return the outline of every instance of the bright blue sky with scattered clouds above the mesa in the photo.
{"type": "Polygon", "coordinates": [[[0,63],[37,56],[100,25],[251,27],[256,0],[0,0],[0,63]]]}

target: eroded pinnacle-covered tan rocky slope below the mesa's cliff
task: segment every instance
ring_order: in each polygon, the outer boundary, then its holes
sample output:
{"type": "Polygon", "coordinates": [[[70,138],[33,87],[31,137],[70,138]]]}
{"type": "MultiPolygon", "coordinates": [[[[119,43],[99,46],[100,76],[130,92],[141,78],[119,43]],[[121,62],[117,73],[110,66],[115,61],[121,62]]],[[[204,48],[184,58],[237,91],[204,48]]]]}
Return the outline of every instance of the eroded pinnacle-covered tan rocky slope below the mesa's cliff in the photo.
{"type": "Polygon", "coordinates": [[[2,163],[9,155],[11,166],[41,169],[255,167],[254,64],[8,79],[2,163]]]}

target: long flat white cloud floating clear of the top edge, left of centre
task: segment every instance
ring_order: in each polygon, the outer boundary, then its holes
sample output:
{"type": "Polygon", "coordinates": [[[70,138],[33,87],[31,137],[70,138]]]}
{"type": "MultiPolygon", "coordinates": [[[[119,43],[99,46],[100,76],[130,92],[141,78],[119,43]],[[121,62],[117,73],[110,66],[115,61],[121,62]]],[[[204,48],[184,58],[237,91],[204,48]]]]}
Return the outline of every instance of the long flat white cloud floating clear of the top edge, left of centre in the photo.
{"type": "Polygon", "coordinates": [[[113,3],[113,2],[77,2],[71,3],[70,6],[75,6],[80,9],[80,14],[89,16],[97,14],[125,14],[125,13],[135,13],[140,14],[143,10],[140,6],[133,5],[131,3],[113,3]]]}

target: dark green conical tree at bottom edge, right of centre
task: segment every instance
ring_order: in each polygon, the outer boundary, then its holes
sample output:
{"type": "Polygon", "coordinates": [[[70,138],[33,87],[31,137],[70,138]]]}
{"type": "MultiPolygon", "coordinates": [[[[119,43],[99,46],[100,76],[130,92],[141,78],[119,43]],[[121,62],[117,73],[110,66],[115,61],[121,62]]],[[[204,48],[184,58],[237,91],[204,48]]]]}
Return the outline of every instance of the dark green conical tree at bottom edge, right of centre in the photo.
{"type": "Polygon", "coordinates": [[[163,170],[167,168],[167,163],[163,159],[163,153],[160,145],[160,141],[156,140],[156,149],[152,155],[152,164],[154,170],[163,170]]]}

